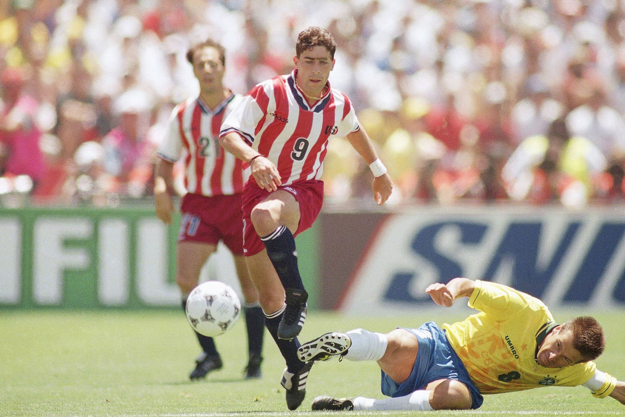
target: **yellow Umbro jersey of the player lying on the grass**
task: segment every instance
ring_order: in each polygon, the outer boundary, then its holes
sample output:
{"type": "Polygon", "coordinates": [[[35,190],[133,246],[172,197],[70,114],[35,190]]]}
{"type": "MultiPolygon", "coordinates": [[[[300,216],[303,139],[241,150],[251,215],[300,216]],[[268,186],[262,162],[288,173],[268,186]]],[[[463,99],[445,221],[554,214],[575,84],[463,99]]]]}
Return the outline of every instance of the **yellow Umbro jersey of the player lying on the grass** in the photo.
{"type": "Polygon", "coordinates": [[[539,299],[478,280],[468,305],[480,312],[442,328],[482,394],[577,386],[594,376],[593,362],[566,368],[544,368],[536,363],[536,347],[557,326],[539,299]]]}

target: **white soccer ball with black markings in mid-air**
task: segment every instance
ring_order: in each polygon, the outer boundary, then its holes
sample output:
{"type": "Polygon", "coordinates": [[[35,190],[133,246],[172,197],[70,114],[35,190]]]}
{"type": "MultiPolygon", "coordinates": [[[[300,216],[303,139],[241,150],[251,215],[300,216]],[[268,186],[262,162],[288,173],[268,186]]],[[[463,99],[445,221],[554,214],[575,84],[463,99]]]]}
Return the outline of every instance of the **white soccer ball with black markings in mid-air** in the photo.
{"type": "Polygon", "coordinates": [[[239,318],[241,301],[231,286],[207,281],[195,287],[187,298],[187,320],[204,336],[219,336],[239,318]]]}

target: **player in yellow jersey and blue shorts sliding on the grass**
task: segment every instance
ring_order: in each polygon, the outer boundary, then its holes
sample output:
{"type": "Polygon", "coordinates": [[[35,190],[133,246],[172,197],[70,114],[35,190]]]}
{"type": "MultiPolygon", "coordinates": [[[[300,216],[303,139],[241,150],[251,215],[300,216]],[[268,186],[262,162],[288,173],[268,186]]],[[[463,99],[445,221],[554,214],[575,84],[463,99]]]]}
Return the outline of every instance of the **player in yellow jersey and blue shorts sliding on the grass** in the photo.
{"type": "Polygon", "coordinates": [[[625,383],[597,369],[605,337],[592,317],[554,322],[539,299],[487,281],[454,278],[426,292],[439,306],[459,297],[479,310],[464,321],[439,328],[397,327],[387,334],[356,329],[326,333],[299,349],[302,360],[341,355],[351,361],[377,361],[382,393],[391,398],[317,397],[312,409],[431,410],[479,408],[482,394],[541,386],[583,385],[598,398],[625,404],[625,383]]]}

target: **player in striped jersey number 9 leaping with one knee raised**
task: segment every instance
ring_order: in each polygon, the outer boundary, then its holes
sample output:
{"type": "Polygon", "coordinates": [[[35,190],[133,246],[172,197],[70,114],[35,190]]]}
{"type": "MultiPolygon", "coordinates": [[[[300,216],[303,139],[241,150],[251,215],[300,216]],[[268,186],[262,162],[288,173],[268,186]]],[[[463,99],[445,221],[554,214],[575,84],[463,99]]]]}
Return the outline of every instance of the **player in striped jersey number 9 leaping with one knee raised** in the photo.
{"type": "Polygon", "coordinates": [[[286,360],[281,383],[289,409],[304,399],[312,366],[297,358],[308,294],[294,236],[311,227],[321,210],[319,178],[329,140],[345,136],[369,164],[377,203],[392,190],[349,98],[327,82],[336,50],[331,34],[308,28],[297,37],[295,50],[295,70],[252,88],[224,121],[219,139],[251,167],[243,191],[244,255],[267,329],[286,360]]]}

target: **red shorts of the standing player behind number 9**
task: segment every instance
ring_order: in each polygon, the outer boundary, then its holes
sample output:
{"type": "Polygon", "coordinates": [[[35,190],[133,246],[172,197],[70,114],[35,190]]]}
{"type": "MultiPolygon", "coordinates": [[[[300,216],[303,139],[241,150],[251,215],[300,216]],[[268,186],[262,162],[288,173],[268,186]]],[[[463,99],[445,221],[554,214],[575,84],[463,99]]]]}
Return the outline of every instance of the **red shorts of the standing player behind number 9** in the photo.
{"type": "Polygon", "coordinates": [[[222,240],[233,255],[243,254],[240,193],[213,197],[186,193],[180,211],[183,218],[178,242],[216,245],[222,240]]]}

